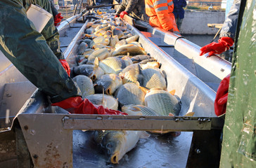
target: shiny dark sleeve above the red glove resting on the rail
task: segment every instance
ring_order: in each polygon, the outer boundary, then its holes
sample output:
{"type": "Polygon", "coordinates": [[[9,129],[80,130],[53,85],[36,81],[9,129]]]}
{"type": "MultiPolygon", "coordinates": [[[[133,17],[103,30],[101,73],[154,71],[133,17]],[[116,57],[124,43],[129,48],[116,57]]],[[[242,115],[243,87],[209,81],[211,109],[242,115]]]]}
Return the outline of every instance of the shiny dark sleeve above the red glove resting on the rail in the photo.
{"type": "Polygon", "coordinates": [[[220,31],[220,35],[219,35],[220,38],[223,36],[228,36],[233,39],[235,38],[240,4],[241,4],[241,0],[233,1],[233,4],[229,10],[229,13],[226,16],[226,20],[222,26],[222,30],[220,31]]]}

